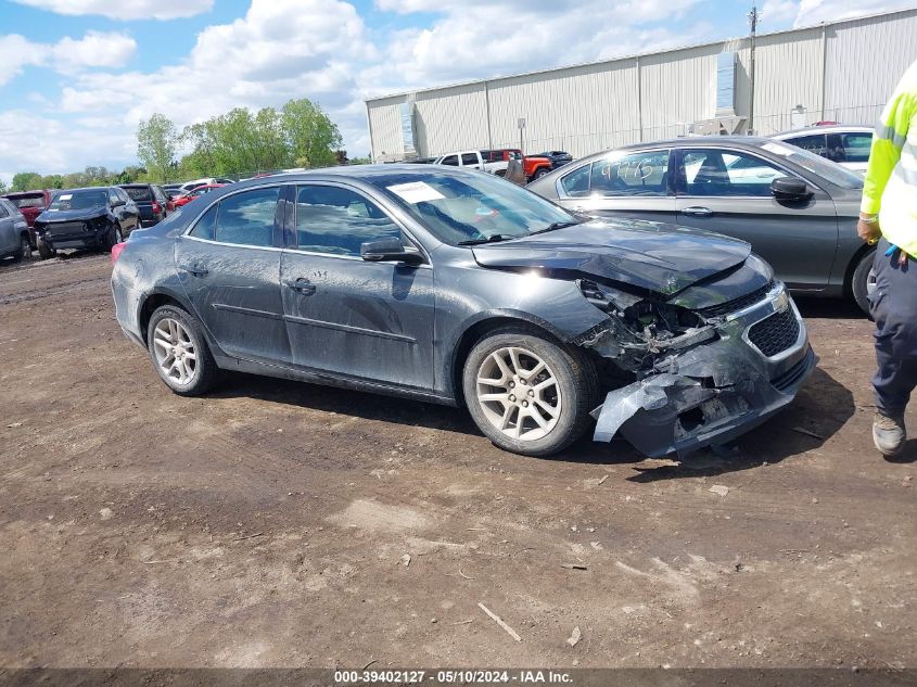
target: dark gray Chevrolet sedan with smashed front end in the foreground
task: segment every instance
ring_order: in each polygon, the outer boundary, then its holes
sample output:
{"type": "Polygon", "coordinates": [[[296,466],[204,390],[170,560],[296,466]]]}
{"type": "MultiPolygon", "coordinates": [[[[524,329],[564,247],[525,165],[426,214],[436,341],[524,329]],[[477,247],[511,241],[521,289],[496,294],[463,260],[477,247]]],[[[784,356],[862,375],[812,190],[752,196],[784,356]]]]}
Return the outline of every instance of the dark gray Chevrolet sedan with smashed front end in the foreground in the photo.
{"type": "Polygon", "coordinates": [[[460,169],[254,179],[113,257],[122,329],[177,394],[240,370],[466,406],[532,456],[593,425],[649,456],[722,444],[789,404],[816,364],[747,243],[585,220],[460,169]]]}

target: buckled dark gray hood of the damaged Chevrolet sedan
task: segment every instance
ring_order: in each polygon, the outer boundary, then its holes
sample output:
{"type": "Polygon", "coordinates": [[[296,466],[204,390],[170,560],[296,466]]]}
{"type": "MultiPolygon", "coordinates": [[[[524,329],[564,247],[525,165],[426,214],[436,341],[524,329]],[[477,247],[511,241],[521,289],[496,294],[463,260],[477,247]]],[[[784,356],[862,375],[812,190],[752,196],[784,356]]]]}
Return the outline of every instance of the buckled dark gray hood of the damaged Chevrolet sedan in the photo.
{"type": "Polygon", "coordinates": [[[476,245],[473,252],[482,267],[577,271],[671,295],[740,265],[751,246],[675,225],[614,219],[476,245]]]}

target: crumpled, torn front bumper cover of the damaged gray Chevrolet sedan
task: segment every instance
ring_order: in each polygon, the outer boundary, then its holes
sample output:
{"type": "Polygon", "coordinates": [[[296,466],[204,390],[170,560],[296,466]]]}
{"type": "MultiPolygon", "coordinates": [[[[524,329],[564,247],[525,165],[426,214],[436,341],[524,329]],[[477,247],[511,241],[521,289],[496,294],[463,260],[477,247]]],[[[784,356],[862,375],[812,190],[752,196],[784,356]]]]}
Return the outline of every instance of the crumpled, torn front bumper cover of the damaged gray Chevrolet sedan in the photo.
{"type": "Polygon", "coordinates": [[[595,441],[620,433],[650,457],[686,456],[757,427],[787,406],[818,362],[805,323],[777,284],[765,298],[728,315],[719,340],[670,358],[668,369],[609,392],[593,411],[595,441]],[[751,328],[789,311],[799,323],[794,343],[770,355],[752,344],[751,328]]]}

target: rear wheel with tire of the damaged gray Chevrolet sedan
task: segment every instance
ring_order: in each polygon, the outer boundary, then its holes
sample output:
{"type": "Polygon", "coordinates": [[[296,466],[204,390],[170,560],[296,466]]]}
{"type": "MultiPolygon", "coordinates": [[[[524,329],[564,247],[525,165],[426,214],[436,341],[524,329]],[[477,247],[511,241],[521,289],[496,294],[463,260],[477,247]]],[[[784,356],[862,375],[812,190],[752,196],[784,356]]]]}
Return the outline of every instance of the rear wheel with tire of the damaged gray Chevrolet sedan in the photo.
{"type": "Polygon", "coordinates": [[[179,396],[200,396],[218,381],[219,370],[201,325],[174,305],[157,308],[147,328],[153,369],[179,396]]]}

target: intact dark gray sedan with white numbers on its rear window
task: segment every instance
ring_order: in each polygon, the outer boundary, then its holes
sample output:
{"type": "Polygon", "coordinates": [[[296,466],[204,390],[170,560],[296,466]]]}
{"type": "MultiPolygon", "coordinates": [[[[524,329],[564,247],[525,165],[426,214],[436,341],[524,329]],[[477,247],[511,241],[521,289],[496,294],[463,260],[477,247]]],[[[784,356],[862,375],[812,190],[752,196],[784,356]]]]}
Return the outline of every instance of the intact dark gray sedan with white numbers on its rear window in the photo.
{"type": "Polygon", "coordinates": [[[856,236],[863,178],[794,145],[718,136],[631,145],[526,188],[588,215],[742,239],[792,291],[846,295],[869,309],[875,249],[856,236]]]}

